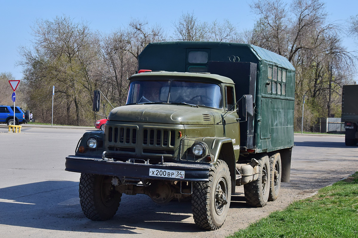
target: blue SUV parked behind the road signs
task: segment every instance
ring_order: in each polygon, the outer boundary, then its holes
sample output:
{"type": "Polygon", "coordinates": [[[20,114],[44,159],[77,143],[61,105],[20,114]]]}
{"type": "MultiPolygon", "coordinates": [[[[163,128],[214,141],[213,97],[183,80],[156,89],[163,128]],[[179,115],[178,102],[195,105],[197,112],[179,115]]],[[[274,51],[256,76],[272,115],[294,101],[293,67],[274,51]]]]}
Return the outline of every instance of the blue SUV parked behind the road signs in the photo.
{"type": "MultiPolygon", "coordinates": [[[[15,106],[15,125],[26,123],[29,117],[29,110],[24,112],[21,107],[15,106]]],[[[14,125],[14,106],[0,105],[0,123],[14,125]]]]}

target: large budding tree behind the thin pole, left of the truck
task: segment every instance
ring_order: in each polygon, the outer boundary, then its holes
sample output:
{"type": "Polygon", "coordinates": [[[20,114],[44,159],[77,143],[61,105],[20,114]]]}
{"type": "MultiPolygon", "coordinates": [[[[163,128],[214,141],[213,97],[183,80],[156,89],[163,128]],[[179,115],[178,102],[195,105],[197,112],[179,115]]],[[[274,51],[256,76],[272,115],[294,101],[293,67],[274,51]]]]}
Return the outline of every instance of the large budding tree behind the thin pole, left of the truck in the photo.
{"type": "MultiPolygon", "coordinates": [[[[59,115],[54,119],[58,123],[86,123],[84,108],[89,108],[92,66],[98,60],[95,35],[87,22],[74,22],[67,16],[57,16],[53,21],[37,20],[32,35],[32,48],[20,48],[22,60],[19,64],[24,66],[30,101],[36,104],[33,106],[49,107],[50,91],[54,85],[54,110],[59,115]]],[[[48,121],[45,115],[42,117],[48,121]]]]}

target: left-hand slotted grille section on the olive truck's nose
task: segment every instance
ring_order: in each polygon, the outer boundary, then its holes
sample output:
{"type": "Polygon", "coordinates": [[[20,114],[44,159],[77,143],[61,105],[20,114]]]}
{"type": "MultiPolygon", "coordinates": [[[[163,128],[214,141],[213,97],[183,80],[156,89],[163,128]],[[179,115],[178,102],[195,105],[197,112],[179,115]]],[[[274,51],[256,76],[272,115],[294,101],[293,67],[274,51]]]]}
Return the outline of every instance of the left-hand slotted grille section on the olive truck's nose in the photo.
{"type": "Polygon", "coordinates": [[[108,126],[107,140],[108,142],[135,145],[137,143],[137,128],[108,126]]]}

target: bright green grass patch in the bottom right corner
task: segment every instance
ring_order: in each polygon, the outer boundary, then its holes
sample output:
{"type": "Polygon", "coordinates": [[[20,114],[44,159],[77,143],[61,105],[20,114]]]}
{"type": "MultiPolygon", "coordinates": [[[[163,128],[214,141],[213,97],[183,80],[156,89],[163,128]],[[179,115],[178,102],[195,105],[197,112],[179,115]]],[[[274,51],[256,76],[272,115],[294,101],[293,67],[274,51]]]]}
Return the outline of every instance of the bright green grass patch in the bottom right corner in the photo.
{"type": "Polygon", "coordinates": [[[358,172],[229,237],[358,237],[358,172]]]}

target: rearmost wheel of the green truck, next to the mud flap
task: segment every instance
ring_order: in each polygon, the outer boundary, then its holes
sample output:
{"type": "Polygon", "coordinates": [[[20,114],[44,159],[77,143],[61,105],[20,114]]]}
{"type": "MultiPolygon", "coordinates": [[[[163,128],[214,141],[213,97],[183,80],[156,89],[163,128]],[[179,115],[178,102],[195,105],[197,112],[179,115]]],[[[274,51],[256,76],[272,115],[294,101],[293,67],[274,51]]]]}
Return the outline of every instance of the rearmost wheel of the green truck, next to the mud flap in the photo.
{"type": "Polygon", "coordinates": [[[270,160],[270,172],[271,172],[271,183],[269,201],[275,201],[279,197],[281,187],[281,155],[276,153],[269,158],[270,160]]]}

